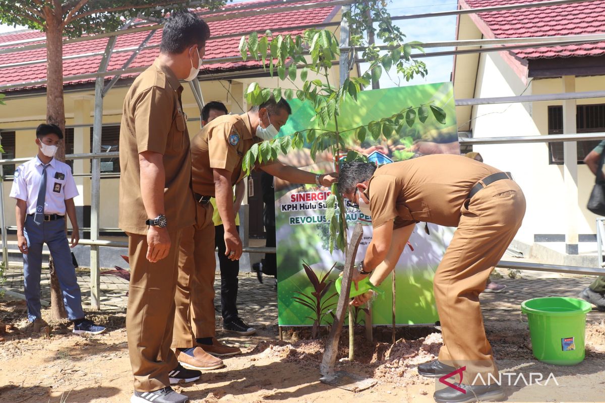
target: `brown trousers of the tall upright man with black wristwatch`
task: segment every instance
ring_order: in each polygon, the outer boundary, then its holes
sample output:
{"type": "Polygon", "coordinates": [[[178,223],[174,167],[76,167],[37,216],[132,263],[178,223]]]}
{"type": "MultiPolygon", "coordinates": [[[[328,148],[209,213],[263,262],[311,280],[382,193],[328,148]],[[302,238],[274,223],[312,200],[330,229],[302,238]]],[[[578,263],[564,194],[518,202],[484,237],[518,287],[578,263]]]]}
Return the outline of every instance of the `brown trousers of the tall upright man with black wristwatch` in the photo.
{"type": "Polygon", "coordinates": [[[168,372],[178,364],[170,342],[181,230],[169,230],[169,236],[168,256],[150,263],[146,259],[147,236],[128,234],[131,272],[126,333],[134,388],[139,392],[170,386],[168,372]]]}

